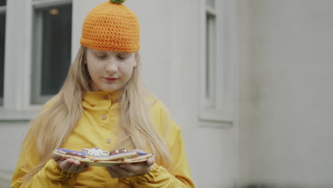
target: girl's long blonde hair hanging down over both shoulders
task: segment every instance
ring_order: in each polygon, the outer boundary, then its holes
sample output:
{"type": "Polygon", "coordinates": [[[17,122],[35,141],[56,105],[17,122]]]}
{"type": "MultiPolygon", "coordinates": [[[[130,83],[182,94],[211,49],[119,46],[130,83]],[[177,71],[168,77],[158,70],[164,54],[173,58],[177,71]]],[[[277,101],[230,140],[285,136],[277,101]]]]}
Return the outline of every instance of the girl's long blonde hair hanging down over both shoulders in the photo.
{"type": "MultiPolygon", "coordinates": [[[[54,148],[63,145],[83,114],[81,105],[83,93],[90,90],[90,75],[83,63],[85,51],[86,48],[81,46],[59,93],[53,98],[50,106],[41,110],[41,113],[30,122],[31,129],[25,140],[26,149],[36,143],[39,163],[33,169],[29,169],[30,172],[23,177],[23,182],[29,182],[45,166],[51,159],[54,148]]],[[[136,56],[137,66],[118,100],[121,139],[116,146],[142,150],[148,147],[154,152],[157,163],[169,169],[171,165],[169,148],[166,138],[160,136],[152,125],[147,103],[147,96],[150,94],[142,85],[138,52],[136,56]]]]}

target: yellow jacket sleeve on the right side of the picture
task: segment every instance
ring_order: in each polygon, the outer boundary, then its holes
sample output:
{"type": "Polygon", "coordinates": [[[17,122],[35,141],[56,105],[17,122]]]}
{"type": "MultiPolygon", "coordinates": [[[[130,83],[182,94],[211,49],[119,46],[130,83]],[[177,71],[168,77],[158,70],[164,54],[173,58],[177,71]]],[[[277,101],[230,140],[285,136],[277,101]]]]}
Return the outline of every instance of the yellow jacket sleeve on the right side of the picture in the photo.
{"type": "MultiPolygon", "coordinates": [[[[165,109],[162,110],[162,113],[166,113],[165,109]]],[[[168,121],[169,117],[166,117],[165,114],[162,116],[162,119],[165,118],[164,120],[168,121]]],[[[168,143],[171,159],[173,162],[171,172],[169,172],[161,165],[155,163],[152,171],[150,171],[148,174],[129,178],[134,187],[194,187],[194,183],[191,181],[189,164],[186,160],[186,155],[184,152],[184,143],[183,137],[181,135],[181,129],[173,120],[169,121],[171,121],[171,128],[169,132],[168,143]]],[[[163,124],[164,123],[162,122],[162,125],[163,124]]]]}

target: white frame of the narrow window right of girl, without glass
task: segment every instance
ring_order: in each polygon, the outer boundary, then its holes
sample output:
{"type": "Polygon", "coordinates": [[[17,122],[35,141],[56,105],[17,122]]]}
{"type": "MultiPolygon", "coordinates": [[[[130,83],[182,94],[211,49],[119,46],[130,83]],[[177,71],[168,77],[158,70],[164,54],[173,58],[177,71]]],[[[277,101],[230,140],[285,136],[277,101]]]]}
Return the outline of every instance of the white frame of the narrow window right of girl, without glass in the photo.
{"type": "Polygon", "coordinates": [[[201,126],[230,127],[233,124],[234,88],[233,88],[233,16],[234,1],[216,0],[214,9],[206,6],[206,0],[200,1],[200,105],[199,124],[201,126]],[[212,86],[215,98],[206,99],[206,15],[216,16],[216,53],[212,86]]]}

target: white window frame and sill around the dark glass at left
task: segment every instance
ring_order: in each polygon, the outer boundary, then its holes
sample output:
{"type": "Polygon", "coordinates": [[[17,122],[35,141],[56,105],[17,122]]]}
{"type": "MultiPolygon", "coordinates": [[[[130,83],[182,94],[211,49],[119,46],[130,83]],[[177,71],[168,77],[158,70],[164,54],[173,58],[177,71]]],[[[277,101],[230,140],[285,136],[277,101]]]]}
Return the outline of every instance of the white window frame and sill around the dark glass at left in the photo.
{"type": "Polygon", "coordinates": [[[6,34],[5,38],[4,105],[0,106],[0,120],[31,120],[41,110],[42,105],[31,104],[33,11],[42,6],[68,3],[72,4],[73,11],[73,1],[75,0],[7,1],[6,33],[11,34],[6,34]]]}

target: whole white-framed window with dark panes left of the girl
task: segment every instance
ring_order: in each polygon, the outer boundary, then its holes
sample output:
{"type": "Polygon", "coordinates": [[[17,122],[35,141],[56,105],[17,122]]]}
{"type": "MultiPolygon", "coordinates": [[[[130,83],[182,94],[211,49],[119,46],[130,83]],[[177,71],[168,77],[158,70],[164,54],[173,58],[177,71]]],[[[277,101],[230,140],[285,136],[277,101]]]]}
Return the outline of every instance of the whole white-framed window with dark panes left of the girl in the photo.
{"type": "Polygon", "coordinates": [[[0,120],[30,120],[63,85],[72,9],[72,0],[0,0],[0,120]]]}

